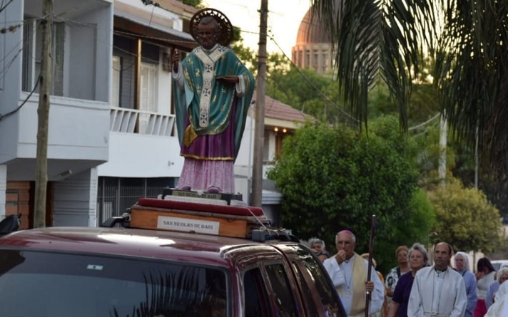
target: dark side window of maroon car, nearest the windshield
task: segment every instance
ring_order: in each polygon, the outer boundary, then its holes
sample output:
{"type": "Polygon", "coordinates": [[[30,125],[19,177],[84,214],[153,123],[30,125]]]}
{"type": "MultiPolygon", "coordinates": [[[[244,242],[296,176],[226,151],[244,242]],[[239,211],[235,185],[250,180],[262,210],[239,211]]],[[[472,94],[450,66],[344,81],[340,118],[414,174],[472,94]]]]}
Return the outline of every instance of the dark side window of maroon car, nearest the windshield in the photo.
{"type": "Polygon", "coordinates": [[[243,275],[245,317],[270,317],[268,294],[259,269],[250,269],[243,275]]]}

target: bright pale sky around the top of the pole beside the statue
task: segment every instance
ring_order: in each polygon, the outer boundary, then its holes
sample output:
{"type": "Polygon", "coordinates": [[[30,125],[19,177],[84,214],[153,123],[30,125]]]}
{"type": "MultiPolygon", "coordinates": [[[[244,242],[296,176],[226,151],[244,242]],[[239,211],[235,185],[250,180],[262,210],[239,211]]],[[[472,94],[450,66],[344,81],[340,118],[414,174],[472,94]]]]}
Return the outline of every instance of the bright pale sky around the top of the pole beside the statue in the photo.
{"type": "MultiPolygon", "coordinates": [[[[245,46],[258,51],[261,0],[203,0],[203,4],[228,16],[233,26],[242,30],[245,46]]],[[[310,0],[268,0],[268,34],[275,40],[267,39],[268,53],[291,57],[300,22],[309,7],[310,0]]]]}

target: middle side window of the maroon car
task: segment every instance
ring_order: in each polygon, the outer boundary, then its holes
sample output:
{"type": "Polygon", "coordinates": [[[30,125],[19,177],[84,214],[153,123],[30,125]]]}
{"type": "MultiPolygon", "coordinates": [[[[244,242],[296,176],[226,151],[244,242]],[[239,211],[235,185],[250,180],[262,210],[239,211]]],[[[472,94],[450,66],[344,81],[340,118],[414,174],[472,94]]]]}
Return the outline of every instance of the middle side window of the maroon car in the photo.
{"type": "Polygon", "coordinates": [[[295,298],[291,290],[288,275],[282,264],[265,266],[273,291],[273,300],[277,306],[278,317],[297,317],[295,298]]]}

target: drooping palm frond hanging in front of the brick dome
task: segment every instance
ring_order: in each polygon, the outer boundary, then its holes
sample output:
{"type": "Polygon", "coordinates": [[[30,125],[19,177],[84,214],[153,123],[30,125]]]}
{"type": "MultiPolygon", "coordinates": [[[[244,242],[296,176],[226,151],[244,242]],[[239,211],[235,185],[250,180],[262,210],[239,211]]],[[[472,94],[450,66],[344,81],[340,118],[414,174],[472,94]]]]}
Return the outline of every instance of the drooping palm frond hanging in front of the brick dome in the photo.
{"type": "Polygon", "coordinates": [[[312,0],[313,11],[330,33],[345,104],[367,123],[367,95],[385,80],[407,130],[412,79],[424,48],[432,49],[435,10],[430,1],[312,0]]]}

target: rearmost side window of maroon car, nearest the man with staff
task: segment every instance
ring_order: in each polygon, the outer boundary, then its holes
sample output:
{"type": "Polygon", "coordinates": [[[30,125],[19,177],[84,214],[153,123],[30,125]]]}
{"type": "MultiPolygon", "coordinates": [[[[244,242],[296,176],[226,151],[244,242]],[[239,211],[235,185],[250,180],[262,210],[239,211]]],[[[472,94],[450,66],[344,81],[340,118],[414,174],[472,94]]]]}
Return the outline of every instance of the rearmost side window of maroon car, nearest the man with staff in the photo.
{"type": "Polygon", "coordinates": [[[330,277],[322,268],[320,261],[310,253],[310,251],[295,246],[295,253],[298,254],[303,266],[310,276],[312,276],[313,286],[321,298],[322,308],[325,309],[327,316],[347,316],[342,303],[338,297],[337,291],[332,286],[330,277]]]}

